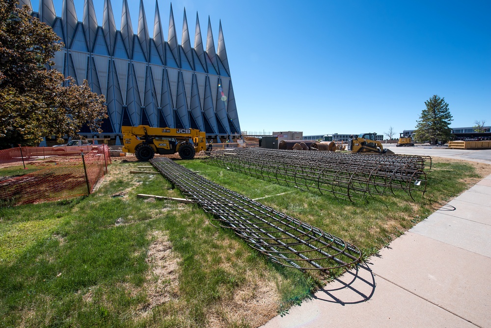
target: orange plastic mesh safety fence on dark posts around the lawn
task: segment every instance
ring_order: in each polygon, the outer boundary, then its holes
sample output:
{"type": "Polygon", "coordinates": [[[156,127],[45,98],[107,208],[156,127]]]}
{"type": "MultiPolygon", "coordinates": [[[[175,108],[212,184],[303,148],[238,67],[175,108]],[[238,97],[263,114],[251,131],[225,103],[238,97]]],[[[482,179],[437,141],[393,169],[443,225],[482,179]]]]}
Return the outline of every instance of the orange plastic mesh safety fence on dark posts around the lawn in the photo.
{"type": "Polygon", "coordinates": [[[0,206],[91,193],[110,164],[107,145],[17,147],[0,151],[0,206]]]}

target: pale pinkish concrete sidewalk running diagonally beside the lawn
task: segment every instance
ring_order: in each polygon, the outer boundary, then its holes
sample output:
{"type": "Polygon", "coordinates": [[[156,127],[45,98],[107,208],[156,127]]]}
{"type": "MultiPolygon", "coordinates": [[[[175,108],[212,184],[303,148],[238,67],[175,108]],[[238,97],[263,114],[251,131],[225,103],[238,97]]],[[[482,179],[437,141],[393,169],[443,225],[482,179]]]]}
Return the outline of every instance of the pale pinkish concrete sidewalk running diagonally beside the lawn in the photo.
{"type": "Polygon", "coordinates": [[[491,175],[264,328],[491,327],[491,175]]]}

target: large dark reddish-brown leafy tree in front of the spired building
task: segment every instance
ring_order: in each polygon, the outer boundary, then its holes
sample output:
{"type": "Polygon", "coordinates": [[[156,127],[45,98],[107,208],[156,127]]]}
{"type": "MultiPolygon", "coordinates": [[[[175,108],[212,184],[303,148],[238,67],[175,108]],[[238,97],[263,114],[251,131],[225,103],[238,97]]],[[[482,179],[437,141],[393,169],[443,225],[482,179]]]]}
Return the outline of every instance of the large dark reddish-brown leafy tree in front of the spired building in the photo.
{"type": "Polygon", "coordinates": [[[48,68],[61,39],[16,4],[0,0],[0,143],[76,136],[83,124],[101,132],[104,96],[91,92],[87,81],[77,85],[48,68]]]}

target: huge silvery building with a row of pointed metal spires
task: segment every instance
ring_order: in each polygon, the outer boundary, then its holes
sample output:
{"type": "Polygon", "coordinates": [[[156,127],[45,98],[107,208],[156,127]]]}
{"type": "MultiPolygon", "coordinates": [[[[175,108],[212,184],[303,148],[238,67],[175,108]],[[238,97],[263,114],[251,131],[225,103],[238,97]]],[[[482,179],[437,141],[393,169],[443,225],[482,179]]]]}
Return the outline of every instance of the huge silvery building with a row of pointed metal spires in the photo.
{"type": "MultiPolygon", "coordinates": [[[[20,5],[31,7],[30,0],[20,5]]],[[[32,7],[31,7],[32,9],[32,7]]],[[[221,28],[218,47],[208,19],[206,48],[196,14],[194,48],[188,31],[186,11],[181,45],[177,42],[172,5],[168,40],[164,40],[158,3],[150,38],[140,1],[138,28],[133,33],[127,0],[123,0],[121,30],[116,30],[110,0],[104,0],[104,20],[97,23],[92,0],[85,0],[82,22],[78,22],[73,0],[63,0],[61,17],[53,0],[40,0],[33,16],[53,27],[65,44],[55,54],[52,68],[71,76],[78,84],[86,79],[93,92],[106,96],[108,118],[102,122],[102,137],[120,143],[121,126],[194,128],[207,136],[240,134],[227,52],[221,28]]],[[[85,137],[93,133],[85,127],[85,137]]]]}

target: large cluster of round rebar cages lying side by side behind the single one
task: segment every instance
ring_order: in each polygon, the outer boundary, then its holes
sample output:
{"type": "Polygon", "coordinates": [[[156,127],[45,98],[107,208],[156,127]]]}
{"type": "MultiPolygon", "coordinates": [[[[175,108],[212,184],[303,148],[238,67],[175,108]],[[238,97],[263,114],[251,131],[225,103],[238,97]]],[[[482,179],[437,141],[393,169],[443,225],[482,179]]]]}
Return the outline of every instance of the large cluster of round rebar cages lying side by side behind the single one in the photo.
{"type": "Polygon", "coordinates": [[[426,191],[425,159],[419,156],[241,148],[212,152],[209,161],[227,169],[351,201],[394,190],[426,191]]]}

